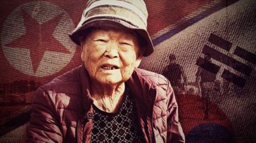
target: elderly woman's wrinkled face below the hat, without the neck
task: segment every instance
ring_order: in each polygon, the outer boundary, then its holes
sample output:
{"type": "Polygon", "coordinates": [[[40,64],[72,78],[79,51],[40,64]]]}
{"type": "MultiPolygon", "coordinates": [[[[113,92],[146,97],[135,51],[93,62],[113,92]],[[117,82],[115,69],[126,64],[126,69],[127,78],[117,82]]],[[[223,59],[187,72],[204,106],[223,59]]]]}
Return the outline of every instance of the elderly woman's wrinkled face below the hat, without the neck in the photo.
{"type": "Polygon", "coordinates": [[[81,59],[91,80],[108,85],[128,80],[141,61],[138,42],[135,33],[93,29],[81,43],[81,59]]]}

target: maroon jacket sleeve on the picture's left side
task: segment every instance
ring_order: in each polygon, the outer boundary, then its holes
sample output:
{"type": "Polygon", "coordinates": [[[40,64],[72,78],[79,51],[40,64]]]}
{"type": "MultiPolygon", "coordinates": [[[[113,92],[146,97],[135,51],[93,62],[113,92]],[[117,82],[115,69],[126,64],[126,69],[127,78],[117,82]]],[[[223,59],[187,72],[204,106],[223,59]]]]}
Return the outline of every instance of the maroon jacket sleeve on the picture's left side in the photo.
{"type": "Polygon", "coordinates": [[[57,114],[50,95],[42,88],[35,92],[31,119],[27,127],[27,142],[62,142],[57,114]]]}

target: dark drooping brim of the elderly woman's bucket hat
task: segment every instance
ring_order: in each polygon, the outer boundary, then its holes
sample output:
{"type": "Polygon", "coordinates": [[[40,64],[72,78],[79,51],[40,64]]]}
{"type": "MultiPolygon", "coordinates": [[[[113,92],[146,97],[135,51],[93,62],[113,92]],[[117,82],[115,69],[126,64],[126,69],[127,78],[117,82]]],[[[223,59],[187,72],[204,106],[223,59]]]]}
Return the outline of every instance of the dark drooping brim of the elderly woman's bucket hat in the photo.
{"type": "MultiPolygon", "coordinates": [[[[149,56],[154,52],[154,45],[152,43],[152,40],[148,34],[148,32],[145,29],[141,29],[139,27],[133,26],[132,24],[129,24],[128,22],[125,22],[124,20],[118,20],[118,19],[93,19],[88,22],[84,22],[82,26],[77,27],[68,34],[68,36],[71,38],[74,43],[77,45],[80,45],[79,37],[86,29],[90,27],[111,27],[111,26],[118,26],[118,27],[124,27],[126,29],[131,29],[139,34],[141,38],[143,38],[143,44],[145,47],[145,52],[143,53],[144,57],[149,56]]],[[[83,33],[84,35],[84,33],[83,33]]]]}

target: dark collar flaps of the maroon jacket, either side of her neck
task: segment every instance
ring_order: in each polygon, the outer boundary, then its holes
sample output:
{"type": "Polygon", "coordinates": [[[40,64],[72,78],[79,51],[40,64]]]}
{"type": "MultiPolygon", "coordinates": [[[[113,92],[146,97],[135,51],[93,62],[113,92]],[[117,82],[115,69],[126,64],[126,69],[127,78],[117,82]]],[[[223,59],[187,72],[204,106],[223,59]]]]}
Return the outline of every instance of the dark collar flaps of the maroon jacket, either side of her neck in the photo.
{"type": "MultiPolygon", "coordinates": [[[[93,103],[93,100],[90,94],[90,77],[84,67],[84,64],[81,65],[80,76],[83,91],[83,107],[84,110],[88,112],[90,106],[93,103]]],[[[156,97],[156,94],[154,94],[156,93],[156,90],[154,90],[151,85],[148,84],[147,79],[143,79],[143,77],[138,72],[138,69],[134,70],[132,76],[129,80],[127,80],[126,84],[129,87],[130,94],[132,94],[132,97],[134,98],[138,112],[141,112],[141,116],[152,116],[152,105],[156,97]]]]}

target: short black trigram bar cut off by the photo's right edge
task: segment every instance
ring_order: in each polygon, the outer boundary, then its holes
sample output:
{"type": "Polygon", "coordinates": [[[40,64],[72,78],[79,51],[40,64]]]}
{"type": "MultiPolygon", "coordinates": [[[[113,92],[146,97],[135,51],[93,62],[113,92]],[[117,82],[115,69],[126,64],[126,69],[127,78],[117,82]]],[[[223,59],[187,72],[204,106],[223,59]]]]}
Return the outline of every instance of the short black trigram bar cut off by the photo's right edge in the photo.
{"type": "Polygon", "coordinates": [[[243,59],[246,59],[247,61],[250,61],[251,63],[256,63],[256,56],[255,54],[252,54],[252,52],[248,52],[247,50],[244,50],[240,47],[236,47],[236,50],[234,51],[234,54],[236,56],[242,57],[243,59]]]}

